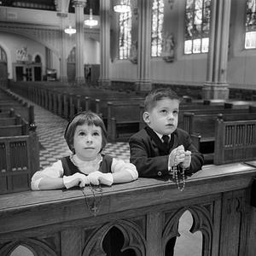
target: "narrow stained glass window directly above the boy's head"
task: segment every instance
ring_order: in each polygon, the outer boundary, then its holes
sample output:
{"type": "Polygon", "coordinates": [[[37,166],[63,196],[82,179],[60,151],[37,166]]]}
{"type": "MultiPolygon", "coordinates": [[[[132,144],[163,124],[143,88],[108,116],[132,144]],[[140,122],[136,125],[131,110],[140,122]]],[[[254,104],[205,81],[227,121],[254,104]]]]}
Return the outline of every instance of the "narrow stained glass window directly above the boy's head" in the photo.
{"type": "Polygon", "coordinates": [[[151,56],[158,57],[162,50],[164,0],[154,0],[152,6],[151,56]]]}

